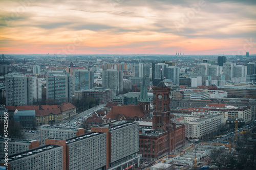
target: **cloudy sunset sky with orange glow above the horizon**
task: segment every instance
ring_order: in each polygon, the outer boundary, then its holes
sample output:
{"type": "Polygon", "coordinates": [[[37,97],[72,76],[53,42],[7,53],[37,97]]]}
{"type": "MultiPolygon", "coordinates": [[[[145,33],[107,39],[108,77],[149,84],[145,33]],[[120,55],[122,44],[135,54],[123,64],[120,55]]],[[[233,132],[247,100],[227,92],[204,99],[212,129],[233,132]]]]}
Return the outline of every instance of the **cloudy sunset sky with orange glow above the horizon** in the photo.
{"type": "Polygon", "coordinates": [[[0,1],[1,54],[256,54],[256,1],[0,1]]]}

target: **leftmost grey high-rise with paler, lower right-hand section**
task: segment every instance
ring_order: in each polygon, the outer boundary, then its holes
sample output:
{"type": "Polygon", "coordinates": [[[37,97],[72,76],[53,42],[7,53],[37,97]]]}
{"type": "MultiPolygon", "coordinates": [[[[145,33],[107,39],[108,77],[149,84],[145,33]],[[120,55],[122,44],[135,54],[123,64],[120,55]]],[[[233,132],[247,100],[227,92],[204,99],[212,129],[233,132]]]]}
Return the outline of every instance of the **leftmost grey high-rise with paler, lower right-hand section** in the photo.
{"type": "Polygon", "coordinates": [[[6,76],[6,105],[33,105],[41,100],[41,90],[41,79],[9,74],[6,76]]]}

